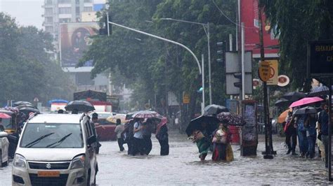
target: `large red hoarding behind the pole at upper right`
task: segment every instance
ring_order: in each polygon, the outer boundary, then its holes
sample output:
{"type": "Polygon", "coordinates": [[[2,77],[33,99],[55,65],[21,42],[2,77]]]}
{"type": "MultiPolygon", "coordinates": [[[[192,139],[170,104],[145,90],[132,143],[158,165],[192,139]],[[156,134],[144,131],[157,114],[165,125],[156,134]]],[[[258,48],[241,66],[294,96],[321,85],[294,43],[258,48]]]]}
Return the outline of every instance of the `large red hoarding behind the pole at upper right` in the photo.
{"type": "MultiPolygon", "coordinates": [[[[253,57],[259,57],[259,8],[258,0],[240,1],[240,22],[244,22],[245,50],[251,50],[253,57]]],[[[274,34],[266,31],[266,17],[263,18],[263,46],[265,48],[265,57],[278,57],[278,38],[274,34]]]]}

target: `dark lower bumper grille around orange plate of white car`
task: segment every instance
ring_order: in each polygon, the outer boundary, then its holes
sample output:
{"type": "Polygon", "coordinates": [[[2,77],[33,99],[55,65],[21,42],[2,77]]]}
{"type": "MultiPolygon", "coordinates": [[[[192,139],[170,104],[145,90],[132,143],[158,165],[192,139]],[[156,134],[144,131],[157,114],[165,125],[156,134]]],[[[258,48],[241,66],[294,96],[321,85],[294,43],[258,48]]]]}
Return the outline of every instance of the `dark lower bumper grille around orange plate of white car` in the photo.
{"type": "Polygon", "coordinates": [[[60,174],[59,177],[38,177],[37,173],[30,173],[32,185],[66,185],[68,174],[60,174]]]}

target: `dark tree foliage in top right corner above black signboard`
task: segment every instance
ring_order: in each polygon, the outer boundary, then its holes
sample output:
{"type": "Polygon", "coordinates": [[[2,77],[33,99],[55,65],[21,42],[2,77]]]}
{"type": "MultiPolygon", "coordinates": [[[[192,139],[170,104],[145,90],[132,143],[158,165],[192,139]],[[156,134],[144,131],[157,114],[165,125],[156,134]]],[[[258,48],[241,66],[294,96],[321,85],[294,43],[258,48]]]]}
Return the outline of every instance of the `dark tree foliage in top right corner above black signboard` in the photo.
{"type": "Polygon", "coordinates": [[[306,88],[306,47],[308,41],[333,38],[333,1],[262,0],[261,6],[271,28],[280,34],[282,71],[291,77],[294,88],[306,88]]]}

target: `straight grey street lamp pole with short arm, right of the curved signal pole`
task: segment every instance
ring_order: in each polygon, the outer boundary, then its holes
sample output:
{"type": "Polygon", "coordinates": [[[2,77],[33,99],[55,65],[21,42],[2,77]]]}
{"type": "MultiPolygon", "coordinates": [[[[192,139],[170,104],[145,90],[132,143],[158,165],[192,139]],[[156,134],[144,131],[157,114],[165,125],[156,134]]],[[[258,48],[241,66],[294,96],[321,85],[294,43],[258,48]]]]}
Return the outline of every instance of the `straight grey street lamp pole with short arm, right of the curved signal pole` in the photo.
{"type": "MultiPolygon", "coordinates": [[[[210,36],[209,36],[209,22],[207,24],[201,22],[192,22],[192,21],[185,21],[185,20],[176,20],[172,18],[160,18],[159,20],[170,20],[170,21],[177,21],[177,22],[185,22],[190,24],[200,24],[204,28],[204,33],[207,36],[207,44],[208,44],[208,83],[209,83],[209,104],[211,105],[211,48],[210,48],[210,36]]],[[[204,94],[204,92],[202,92],[204,94]]]]}

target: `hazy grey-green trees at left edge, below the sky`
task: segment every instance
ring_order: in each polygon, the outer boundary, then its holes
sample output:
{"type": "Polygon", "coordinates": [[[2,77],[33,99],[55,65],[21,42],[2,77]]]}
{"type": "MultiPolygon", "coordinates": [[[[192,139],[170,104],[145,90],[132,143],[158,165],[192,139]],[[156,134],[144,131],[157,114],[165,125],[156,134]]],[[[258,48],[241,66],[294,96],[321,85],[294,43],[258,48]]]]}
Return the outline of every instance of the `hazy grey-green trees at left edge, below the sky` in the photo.
{"type": "Polygon", "coordinates": [[[19,27],[0,13],[0,103],[7,100],[70,99],[70,79],[51,61],[53,38],[36,27],[19,27]]]}

